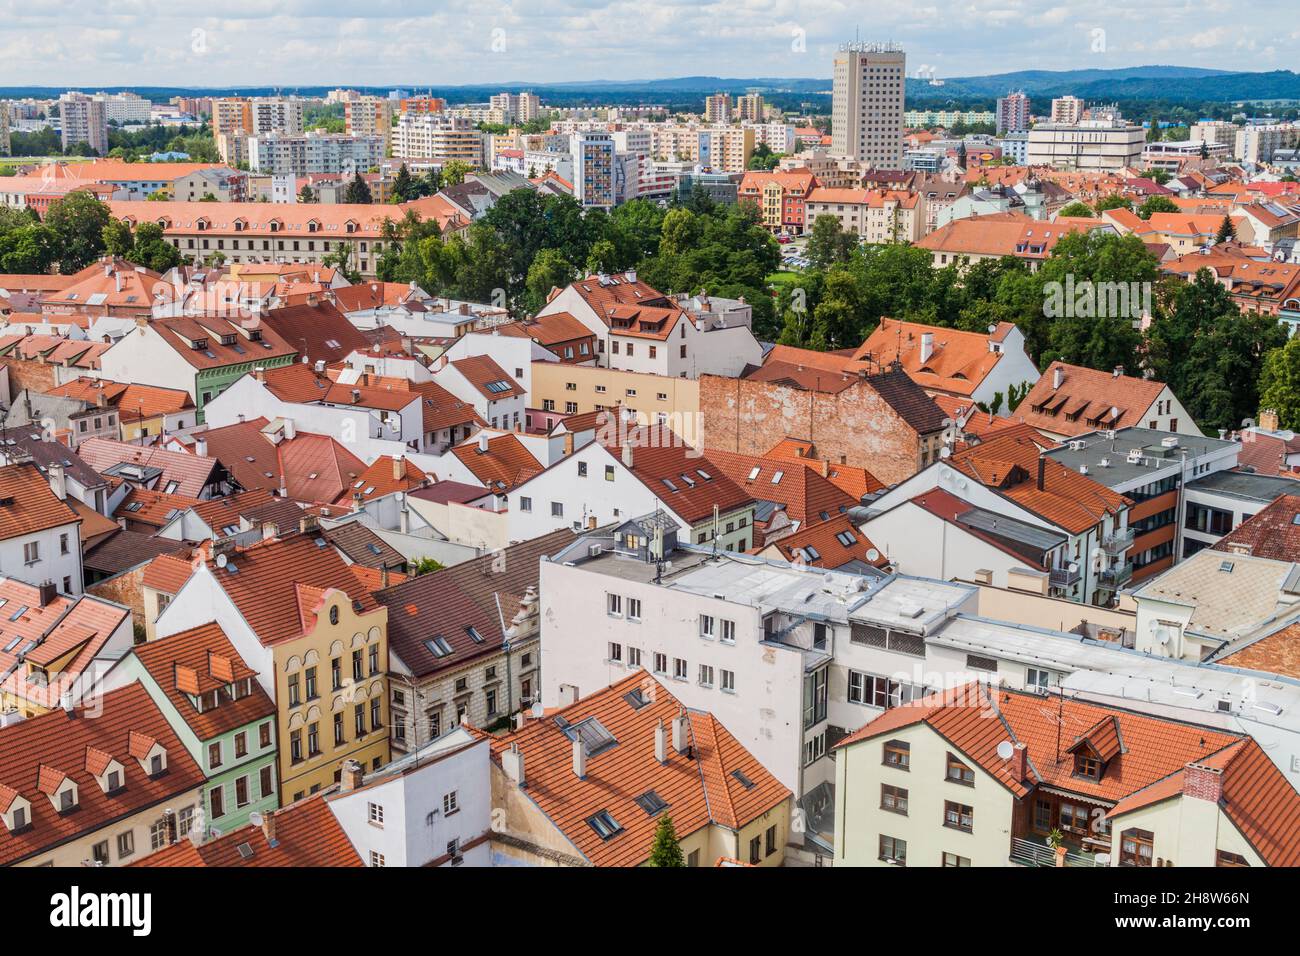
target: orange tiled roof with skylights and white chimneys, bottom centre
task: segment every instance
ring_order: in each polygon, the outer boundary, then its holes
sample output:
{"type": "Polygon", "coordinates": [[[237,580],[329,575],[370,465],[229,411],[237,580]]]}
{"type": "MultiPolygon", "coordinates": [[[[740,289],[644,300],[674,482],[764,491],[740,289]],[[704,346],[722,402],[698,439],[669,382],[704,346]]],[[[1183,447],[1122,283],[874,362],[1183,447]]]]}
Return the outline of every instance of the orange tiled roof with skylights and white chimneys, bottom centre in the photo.
{"type": "Polygon", "coordinates": [[[716,718],[686,710],[644,671],[493,737],[493,760],[499,765],[511,747],[524,754],[526,797],[595,866],[638,866],[650,856],[659,814],[637,803],[650,791],[667,804],[663,813],[672,817],[679,838],[710,823],[738,831],[790,797],[716,718]],[[646,701],[642,706],[629,704],[633,692],[646,701]],[[689,722],[689,756],[672,748],[671,723],[679,714],[689,722]],[[566,731],[582,721],[598,721],[616,744],[590,753],[586,775],[578,778],[572,731],[566,731]],[[663,763],[655,758],[660,722],[668,734],[663,763]],[[608,839],[588,822],[602,810],[619,826],[608,839]]]}

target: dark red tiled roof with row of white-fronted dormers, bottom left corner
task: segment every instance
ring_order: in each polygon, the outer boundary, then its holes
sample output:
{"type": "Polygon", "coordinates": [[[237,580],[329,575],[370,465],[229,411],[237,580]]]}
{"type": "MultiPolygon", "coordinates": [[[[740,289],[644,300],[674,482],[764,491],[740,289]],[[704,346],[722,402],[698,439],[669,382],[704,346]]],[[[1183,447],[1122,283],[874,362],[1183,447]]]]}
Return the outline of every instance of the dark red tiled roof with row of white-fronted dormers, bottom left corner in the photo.
{"type": "Polygon", "coordinates": [[[35,857],[204,783],[203,771],[142,684],[109,691],[96,698],[95,708],[77,706],[72,715],[56,709],[0,730],[0,784],[31,804],[29,829],[14,834],[0,827],[0,864],[35,857]],[[131,760],[131,739],[139,735],[166,750],[166,773],[151,778],[131,760]],[[124,787],[112,793],[100,788],[86,770],[87,748],[122,765],[124,787]],[[75,812],[57,813],[39,790],[42,766],[77,783],[75,812]]]}

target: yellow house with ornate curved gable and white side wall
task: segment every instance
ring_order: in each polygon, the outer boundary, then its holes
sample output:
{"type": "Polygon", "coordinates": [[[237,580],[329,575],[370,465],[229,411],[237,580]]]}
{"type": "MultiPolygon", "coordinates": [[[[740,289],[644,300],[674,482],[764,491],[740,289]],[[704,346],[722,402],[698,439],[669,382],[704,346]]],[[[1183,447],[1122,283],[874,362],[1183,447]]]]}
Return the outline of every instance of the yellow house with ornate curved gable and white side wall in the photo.
{"type": "Polygon", "coordinates": [[[281,804],[356,760],[389,762],[389,611],[324,541],[220,546],[159,615],[166,640],[216,622],[276,704],[281,804]]]}

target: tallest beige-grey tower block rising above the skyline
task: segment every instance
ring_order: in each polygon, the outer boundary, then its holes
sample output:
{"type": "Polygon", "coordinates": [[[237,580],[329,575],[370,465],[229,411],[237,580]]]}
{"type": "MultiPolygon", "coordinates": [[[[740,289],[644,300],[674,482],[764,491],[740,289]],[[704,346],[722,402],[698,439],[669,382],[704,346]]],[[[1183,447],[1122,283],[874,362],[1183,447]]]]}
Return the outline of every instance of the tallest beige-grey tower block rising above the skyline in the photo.
{"type": "Polygon", "coordinates": [[[907,55],[896,43],[845,43],[835,55],[831,152],[878,169],[902,168],[907,55]]]}

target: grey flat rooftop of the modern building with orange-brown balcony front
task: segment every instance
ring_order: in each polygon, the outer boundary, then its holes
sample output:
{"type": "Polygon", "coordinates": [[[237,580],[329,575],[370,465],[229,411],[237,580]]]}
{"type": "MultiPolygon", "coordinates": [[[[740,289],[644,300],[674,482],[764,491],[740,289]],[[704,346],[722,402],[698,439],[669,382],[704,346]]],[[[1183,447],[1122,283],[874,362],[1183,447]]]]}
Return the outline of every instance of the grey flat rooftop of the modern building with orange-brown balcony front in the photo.
{"type": "Polygon", "coordinates": [[[1114,438],[1108,437],[1106,432],[1088,432],[1044,454],[1071,471],[1087,466],[1088,477],[1106,488],[1131,488],[1178,466],[1184,455],[1187,460],[1193,460],[1235,446],[1238,442],[1225,438],[1174,434],[1152,428],[1121,428],[1114,438]],[[1166,440],[1176,440],[1178,444],[1165,445],[1166,440]],[[1135,450],[1141,454],[1134,455],[1135,460],[1130,462],[1130,454],[1135,450]]]}

